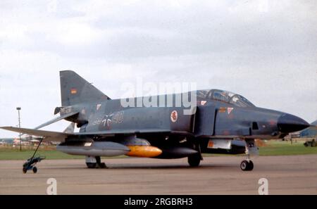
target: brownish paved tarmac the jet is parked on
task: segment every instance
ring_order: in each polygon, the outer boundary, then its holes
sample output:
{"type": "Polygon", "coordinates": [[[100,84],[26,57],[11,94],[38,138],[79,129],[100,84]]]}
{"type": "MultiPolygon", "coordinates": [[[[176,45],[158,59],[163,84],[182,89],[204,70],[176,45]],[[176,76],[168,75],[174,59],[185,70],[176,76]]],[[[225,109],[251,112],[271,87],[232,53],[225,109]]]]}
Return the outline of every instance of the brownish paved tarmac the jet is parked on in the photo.
{"type": "Polygon", "coordinates": [[[269,194],[317,194],[317,155],[261,156],[243,172],[244,157],[208,157],[200,167],[187,158],[104,159],[108,169],[88,169],[85,160],[43,160],[23,174],[23,160],[0,160],[0,194],[46,194],[55,178],[57,194],[258,194],[260,178],[269,194]]]}

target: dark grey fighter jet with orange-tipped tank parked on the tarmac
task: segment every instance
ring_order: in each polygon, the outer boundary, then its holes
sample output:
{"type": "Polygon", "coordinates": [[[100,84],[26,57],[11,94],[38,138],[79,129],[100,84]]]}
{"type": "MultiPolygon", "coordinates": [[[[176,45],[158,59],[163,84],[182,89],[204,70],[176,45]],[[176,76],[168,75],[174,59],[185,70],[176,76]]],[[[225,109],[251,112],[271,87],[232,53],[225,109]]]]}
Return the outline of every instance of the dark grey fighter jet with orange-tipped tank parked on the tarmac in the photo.
{"type": "Polygon", "coordinates": [[[54,111],[59,113],[57,118],[35,129],[1,128],[61,141],[58,151],[86,156],[89,168],[106,167],[101,156],[188,158],[189,165],[197,167],[202,153],[246,153],[240,167],[253,170],[249,157],[258,153],[254,139],[282,139],[309,127],[297,116],[256,107],[244,96],[220,89],[110,99],[73,71],[61,71],[60,80],[61,107],[54,111]],[[194,105],[189,108],[178,102],[184,98],[195,101],[194,105]],[[160,103],[134,106],[138,101],[160,103]],[[39,130],[58,120],[74,122],[80,131],[39,130]]]}

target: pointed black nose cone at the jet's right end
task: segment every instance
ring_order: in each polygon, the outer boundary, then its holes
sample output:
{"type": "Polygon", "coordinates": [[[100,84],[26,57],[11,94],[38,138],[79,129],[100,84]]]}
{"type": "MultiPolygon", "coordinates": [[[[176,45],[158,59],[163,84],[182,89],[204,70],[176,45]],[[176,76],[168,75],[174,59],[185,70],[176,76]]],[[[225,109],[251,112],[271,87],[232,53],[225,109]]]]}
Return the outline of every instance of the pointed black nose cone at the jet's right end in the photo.
{"type": "Polygon", "coordinates": [[[283,114],[278,118],[278,129],[282,133],[297,132],[309,127],[309,123],[295,115],[283,114]]]}

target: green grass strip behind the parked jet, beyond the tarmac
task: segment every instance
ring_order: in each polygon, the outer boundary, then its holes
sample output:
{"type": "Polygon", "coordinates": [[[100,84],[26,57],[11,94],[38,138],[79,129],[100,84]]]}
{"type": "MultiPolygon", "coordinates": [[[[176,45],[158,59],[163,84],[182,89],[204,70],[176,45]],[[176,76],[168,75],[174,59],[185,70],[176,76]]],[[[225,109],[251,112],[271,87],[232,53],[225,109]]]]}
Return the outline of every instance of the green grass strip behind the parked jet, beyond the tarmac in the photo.
{"type": "MultiPolygon", "coordinates": [[[[317,147],[305,147],[304,141],[297,141],[291,144],[290,141],[266,142],[264,146],[259,147],[260,156],[290,156],[290,155],[306,155],[317,154],[317,147]]],[[[23,151],[12,146],[0,147],[0,160],[26,160],[34,153],[34,147],[23,147],[23,151]]],[[[48,160],[56,159],[84,159],[85,156],[71,156],[66,153],[56,151],[55,146],[41,146],[37,152],[40,156],[46,156],[48,160]]],[[[204,156],[223,156],[220,154],[204,154],[204,156]]],[[[126,156],[118,156],[114,158],[125,158],[126,156]]]]}

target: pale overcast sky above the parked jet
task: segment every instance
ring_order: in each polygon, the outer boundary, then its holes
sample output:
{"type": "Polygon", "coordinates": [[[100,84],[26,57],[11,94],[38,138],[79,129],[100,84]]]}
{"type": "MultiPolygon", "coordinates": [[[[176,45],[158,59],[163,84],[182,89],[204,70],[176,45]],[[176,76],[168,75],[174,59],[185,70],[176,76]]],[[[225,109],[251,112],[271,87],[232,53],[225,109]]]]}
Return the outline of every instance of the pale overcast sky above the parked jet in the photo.
{"type": "Polygon", "coordinates": [[[140,78],[194,82],[313,122],[316,11],[317,1],[1,0],[0,126],[18,125],[18,106],[22,127],[54,118],[60,70],[115,99],[140,78]]]}

